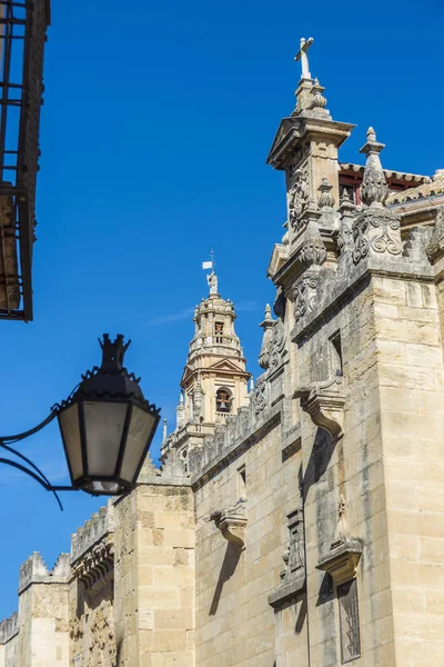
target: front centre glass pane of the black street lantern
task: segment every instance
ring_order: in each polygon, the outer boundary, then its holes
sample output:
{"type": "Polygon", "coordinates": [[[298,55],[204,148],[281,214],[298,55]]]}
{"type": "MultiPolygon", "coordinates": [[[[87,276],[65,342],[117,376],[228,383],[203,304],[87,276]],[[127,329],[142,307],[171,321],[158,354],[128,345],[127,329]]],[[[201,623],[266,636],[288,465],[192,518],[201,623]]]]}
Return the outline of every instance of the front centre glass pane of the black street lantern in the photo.
{"type": "Polygon", "coordinates": [[[88,475],[113,477],[119,459],[128,404],[84,401],[88,475]]]}

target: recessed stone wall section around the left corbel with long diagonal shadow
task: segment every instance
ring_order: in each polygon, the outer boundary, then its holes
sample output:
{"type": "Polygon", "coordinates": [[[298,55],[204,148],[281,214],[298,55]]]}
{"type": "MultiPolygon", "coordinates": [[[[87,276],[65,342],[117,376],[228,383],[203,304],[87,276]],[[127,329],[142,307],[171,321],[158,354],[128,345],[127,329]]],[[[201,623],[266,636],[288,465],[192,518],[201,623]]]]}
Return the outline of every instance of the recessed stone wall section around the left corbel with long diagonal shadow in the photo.
{"type": "Polygon", "coordinates": [[[196,665],[273,665],[274,611],[287,547],[286,515],[299,506],[301,452],[282,461],[281,425],[195,489],[196,665]],[[242,475],[241,475],[242,472],[242,475]],[[244,479],[243,479],[244,475],[244,479]],[[210,517],[246,498],[245,548],[226,541],[210,517]]]}

